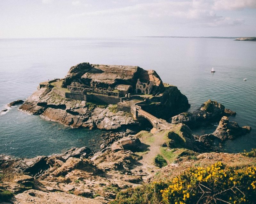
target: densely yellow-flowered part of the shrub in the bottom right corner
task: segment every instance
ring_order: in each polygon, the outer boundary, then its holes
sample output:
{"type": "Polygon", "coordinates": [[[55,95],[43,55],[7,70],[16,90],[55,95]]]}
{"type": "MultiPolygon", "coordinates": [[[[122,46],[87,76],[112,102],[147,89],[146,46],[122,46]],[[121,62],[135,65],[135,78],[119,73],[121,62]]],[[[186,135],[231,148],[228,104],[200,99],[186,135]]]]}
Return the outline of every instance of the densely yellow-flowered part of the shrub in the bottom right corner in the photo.
{"type": "Polygon", "coordinates": [[[255,203],[256,167],[225,168],[221,163],[189,169],[161,190],[164,203],[255,203]]]}

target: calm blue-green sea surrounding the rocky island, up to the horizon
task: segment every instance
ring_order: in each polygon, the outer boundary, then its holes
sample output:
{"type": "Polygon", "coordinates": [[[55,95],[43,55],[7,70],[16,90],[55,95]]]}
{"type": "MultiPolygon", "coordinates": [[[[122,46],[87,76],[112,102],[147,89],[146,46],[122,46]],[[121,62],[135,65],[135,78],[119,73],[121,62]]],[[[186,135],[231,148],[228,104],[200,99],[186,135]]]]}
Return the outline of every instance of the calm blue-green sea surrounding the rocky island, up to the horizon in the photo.
{"type": "MultiPolygon", "coordinates": [[[[39,82],[64,77],[80,62],[137,65],[156,70],[164,82],[178,86],[192,111],[208,99],[236,111],[231,120],[252,126],[252,132],[226,142],[224,151],[250,150],[256,148],[255,53],[256,42],[232,39],[0,39],[0,110],[11,101],[25,100],[39,82]]],[[[194,133],[210,133],[215,128],[199,128],[194,133]]],[[[94,148],[101,133],[66,128],[14,107],[0,115],[0,154],[34,157],[70,147],[94,148]]]]}

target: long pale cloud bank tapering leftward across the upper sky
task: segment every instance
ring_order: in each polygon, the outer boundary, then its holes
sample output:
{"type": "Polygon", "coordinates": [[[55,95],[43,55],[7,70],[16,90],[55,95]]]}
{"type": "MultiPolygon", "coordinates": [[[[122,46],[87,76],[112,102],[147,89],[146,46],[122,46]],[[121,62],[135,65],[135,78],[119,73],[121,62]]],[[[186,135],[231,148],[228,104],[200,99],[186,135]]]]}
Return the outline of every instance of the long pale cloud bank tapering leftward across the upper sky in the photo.
{"type": "Polygon", "coordinates": [[[187,0],[156,1],[134,5],[73,14],[69,18],[81,18],[109,24],[184,25],[204,27],[235,26],[244,19],[219,14],[218,10],[254,8],[255,0],[187,0]],[[243,2],[239,4],[239,2],[243,2]],[[232,6],[230,5],[232,3],[232,6]]]}

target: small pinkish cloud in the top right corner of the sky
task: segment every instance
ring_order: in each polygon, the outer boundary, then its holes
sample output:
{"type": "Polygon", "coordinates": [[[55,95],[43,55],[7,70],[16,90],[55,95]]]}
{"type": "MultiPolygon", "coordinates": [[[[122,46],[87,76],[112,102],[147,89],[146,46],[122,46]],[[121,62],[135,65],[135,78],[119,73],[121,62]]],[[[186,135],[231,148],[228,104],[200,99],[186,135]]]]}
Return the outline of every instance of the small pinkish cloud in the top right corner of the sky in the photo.
{"type": "Polygon", "coordinates": [[[215,0],[213,4],[214,10],[241,10],[255,9],[256,0],[215,0]]]}

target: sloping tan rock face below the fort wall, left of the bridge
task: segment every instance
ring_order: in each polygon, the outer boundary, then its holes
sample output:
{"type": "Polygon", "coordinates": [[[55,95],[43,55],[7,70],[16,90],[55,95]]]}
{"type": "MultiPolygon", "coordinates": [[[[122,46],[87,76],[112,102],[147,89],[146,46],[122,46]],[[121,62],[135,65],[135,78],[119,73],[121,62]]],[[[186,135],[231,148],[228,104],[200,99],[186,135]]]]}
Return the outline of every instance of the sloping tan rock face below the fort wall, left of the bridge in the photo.
{"type": "Polygon", "coordinates": [[[63,98],[51,87],[35,91],[20,110],[40,115],[46,120],[56,121],[72,128],[117,129],[138,124],[131,115],[123,111],[113,113],[106,106],[96,106],[85,101],[63,98]]]}

